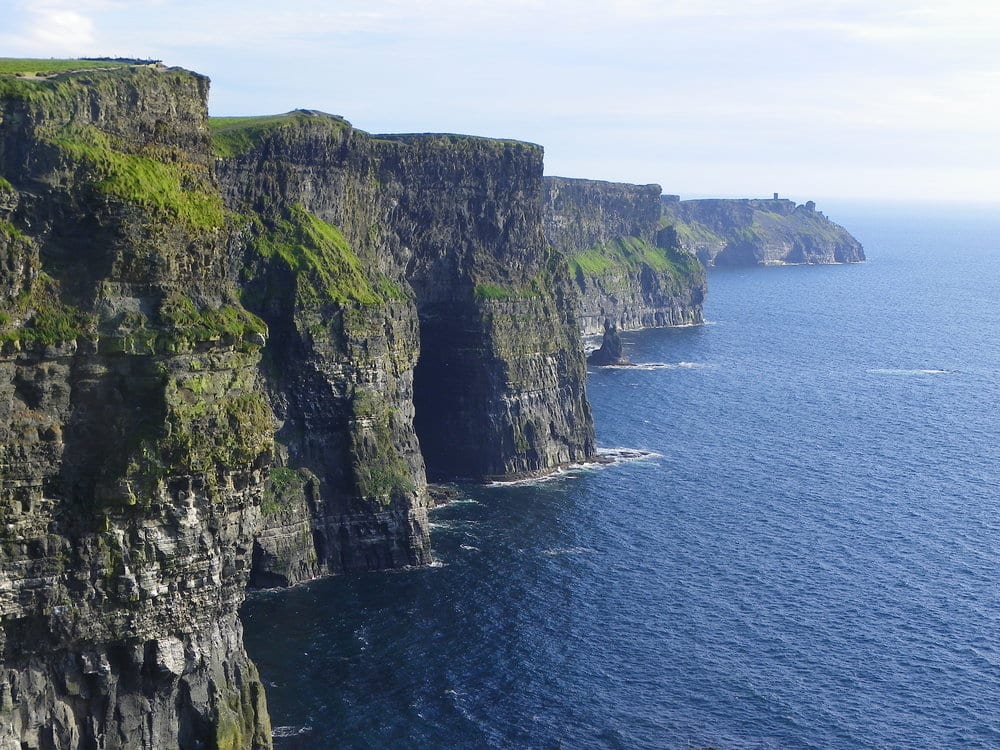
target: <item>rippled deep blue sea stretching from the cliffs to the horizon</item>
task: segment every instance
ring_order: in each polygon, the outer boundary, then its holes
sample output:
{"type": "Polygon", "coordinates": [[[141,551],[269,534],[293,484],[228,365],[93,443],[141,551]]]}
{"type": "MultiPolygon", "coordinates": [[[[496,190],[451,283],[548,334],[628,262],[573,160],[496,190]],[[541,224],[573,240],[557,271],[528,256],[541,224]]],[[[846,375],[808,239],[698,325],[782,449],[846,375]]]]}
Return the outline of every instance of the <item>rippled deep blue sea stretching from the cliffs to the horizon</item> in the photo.
{"type": "Polygon", "coordinates": [[[599,443],[660,457],[470,488],[440,567],[252,598],[279,733],[1000,747],[1000,219],[833,218],[869,263],[713,272],[709,325],[591,373],[599,443]]]}

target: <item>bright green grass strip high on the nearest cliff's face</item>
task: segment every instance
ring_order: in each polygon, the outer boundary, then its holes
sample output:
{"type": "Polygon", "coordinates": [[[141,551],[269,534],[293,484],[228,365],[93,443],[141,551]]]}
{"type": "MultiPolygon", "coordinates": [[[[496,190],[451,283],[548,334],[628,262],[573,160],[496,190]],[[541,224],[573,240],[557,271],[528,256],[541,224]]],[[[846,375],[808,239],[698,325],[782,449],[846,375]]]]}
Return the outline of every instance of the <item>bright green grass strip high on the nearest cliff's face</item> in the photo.
{"type": "Polygon", "coordinates": [[[206,182],[200,167],[155,149],[128,153],[118,139],[94,127],[64,130],[52,142],[70,158],[92,167],[97,189],[135,203],[192,229],[221,227],[222,197],[206,182]]]}

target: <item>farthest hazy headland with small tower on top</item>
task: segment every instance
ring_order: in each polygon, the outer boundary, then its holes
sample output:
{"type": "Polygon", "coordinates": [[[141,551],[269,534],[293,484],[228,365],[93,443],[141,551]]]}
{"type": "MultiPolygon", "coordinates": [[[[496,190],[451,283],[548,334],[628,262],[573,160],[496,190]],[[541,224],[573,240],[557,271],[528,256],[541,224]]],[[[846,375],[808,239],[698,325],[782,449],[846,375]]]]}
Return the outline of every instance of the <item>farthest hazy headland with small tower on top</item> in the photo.
{"type": "Polygon", "coordinates": [[[810,201],[663,197],[661,228],[707,266],[859,263],[864,250],[810,201]]]}

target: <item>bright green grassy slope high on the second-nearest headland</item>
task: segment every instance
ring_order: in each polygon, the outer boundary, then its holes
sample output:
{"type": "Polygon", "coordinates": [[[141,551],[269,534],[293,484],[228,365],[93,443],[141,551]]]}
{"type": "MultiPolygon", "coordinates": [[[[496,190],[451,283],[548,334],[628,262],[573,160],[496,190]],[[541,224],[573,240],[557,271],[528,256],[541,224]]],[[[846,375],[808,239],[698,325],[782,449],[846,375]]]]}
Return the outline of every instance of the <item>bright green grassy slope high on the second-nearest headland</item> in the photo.
{"type": "Polygon", "coordinates": [[[376,305],[406,298],[399,285],[384,276],[373,283],[341,231],[298,206],[287,218],[258,230],[254,249],[268,260],[279,260],[296,276],[304,302],[376,305]]]}

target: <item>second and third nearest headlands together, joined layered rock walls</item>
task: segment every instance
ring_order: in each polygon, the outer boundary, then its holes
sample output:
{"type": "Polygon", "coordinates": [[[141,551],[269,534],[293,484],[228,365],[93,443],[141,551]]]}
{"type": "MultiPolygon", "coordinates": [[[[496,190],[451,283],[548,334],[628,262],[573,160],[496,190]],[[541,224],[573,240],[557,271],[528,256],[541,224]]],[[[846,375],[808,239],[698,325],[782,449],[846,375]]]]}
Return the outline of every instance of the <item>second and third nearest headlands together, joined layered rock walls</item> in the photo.
{"type": "Polygon", "coordinates": [[[592,455],[540,148],[374,137],[316,112],[215,126],[227,204],[258,217],[244,300],[272,331],[282,424],[254,583],[426,562],[427,473],[512,478],[592,455]],[[310,237],[311,254],[288,247],[310,237]]]}

